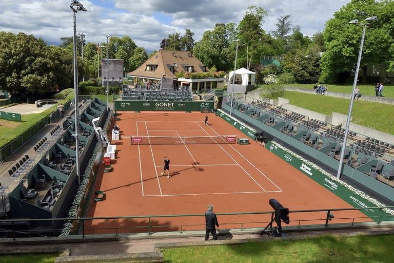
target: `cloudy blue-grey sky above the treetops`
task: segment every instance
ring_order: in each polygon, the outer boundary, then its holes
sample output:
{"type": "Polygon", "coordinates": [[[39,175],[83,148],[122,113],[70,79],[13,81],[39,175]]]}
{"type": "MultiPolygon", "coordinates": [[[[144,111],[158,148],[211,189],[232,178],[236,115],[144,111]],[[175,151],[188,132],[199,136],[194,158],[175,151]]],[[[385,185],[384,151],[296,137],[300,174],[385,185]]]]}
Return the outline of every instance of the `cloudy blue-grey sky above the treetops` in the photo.
{"type": "MultiPolygon", "coordinates": [[[[268,12],[263,28],[275,29],[279,16],[291,14],[292,24],[305,35],[324,29],[334,11],[349,0],[80,0],[87,12],[77,13],[77,32],[88,42],[105,42],[105,34],[129,35],[138,46],[159,49],[168,34],[184,28],[198,41],[216,23],[239,23],[247,6],[261,6],[268,12]]],[[[49,44],[72,36],[70,0],[2,0],[0,31],[25,32],[43,37],[49,44]]]]}

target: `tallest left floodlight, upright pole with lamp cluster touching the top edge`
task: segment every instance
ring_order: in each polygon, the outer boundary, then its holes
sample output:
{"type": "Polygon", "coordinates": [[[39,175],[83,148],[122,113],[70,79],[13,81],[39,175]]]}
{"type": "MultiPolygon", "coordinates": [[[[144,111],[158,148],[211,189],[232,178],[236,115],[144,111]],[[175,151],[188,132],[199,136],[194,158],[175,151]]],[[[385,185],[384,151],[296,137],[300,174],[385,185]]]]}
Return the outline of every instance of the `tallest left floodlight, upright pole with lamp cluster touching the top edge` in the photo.
{"type": "Polygon", "coordinates": [[[74,22],[74,40],[73,40],[73,52],[74,52],[74,107],[75,107],[75,166],[76,166],[76,180],[78,185],[81,184],[81,176],[80,176],[80,149],[78,145],[78,133],[80,132],[80,123],[79,123],[79,114],[78,114],[78,71],[77,71],[77,60],[76,60],[76,13],[78,11],[87,11],[83,5],[73,0],[71,1],[70,8],[73,14],[73,22],[74,22]]]}

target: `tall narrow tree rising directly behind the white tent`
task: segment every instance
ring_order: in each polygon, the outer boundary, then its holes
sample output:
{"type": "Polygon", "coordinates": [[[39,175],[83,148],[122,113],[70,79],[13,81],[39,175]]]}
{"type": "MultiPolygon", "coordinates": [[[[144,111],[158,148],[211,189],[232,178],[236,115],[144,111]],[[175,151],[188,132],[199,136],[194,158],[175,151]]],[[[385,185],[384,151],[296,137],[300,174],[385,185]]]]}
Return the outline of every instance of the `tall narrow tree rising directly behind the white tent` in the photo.
{"type": "Polygon", "coordinates": [[[241,53],[246,51],[246,67],[250,68],[253,56],[256,55],[255,47],[265,33],[262,25],[267,11],[262,7],[249,6],[240,24],[238,25],[238,38],[241,40],[241,53]]]}

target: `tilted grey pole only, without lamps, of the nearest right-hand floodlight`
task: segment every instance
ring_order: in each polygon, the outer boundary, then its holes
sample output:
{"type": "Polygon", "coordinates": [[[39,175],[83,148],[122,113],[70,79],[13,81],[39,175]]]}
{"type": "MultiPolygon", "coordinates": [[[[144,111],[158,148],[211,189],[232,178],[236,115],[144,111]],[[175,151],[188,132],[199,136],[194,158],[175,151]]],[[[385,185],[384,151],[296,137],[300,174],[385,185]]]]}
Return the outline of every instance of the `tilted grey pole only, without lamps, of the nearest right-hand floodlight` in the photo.
{"type": "Polygon", "coordinates": [[[367,25],[368,25],[368,24],[364,24],[364,25],[363,25],[364,28],[363,28],[363,35],[362,35],[362,37],[361,37],[359,58],[358,58],[358,60],[357,60],[356,72],[354,72],[353,90],[351,91],[350,104],[349,104],[349,111],[347,112],[346,127],[345,127],[345,133],[344,133],[343,144],[342,144],[342,149],[341,149],[341,158],[340,158],[339,167],[338,167],[338,174],[337,174],[337,178],[338,178],[338,179],[341,178],[341,174],[342,174],[343,158],[344,158],[344,155],[345,155],[347,134],[349,133],[349,126],[350,126],[350,119],[351,119],[351,110],[352,110],[352,108],[353,108],[354,93],[356,93],[357,79],[358,79],[358,77],[359,77],[361,55],[362,55],[362,53],[363,53],[365,31],[366,31],[366,29],[367,29],[367,25]]]}

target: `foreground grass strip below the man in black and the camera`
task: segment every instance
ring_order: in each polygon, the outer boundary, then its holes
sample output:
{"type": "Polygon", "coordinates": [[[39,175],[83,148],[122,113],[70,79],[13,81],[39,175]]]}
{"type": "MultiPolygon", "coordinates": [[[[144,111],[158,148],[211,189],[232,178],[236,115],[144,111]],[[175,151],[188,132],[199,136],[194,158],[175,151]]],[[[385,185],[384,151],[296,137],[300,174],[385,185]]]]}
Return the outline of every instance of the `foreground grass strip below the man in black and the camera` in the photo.
{"type": "MultiPolygon", "coordinates": [[[[214,242],[214,241],[212,241],[214,242]]],[[[275,240],[166,249],[164,262],[394,262],[394,235],[275,240]]]]}

